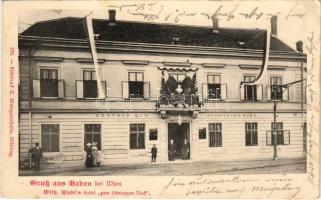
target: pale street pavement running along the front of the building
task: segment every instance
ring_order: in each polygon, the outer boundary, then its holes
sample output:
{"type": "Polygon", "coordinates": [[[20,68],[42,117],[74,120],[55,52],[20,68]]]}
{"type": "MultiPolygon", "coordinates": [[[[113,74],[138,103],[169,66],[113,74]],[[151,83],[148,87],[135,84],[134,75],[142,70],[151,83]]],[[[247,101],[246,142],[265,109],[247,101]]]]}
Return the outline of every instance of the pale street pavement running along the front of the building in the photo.
{"type": "Polygon", "coordinates": [[[182,161],[168,163],[144,163],[103,165],[87,169],[75,164],[45,164],[40,171],[20,170],[21,176],[97,176],[97,175],[202,175],[202,174],[255,174],[255,173],[304,173],[304,158],[247,161],[182,161]]]}

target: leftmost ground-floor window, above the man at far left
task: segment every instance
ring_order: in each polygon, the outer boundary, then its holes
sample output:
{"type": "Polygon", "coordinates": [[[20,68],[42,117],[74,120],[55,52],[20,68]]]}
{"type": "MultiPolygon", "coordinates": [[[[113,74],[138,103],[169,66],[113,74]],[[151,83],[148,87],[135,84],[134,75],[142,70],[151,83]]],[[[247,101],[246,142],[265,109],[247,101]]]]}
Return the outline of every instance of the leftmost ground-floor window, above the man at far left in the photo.
{"type": "Polygon", "coordinates": [[[41,124],[43,152],[59,152],[59,124],[41,124]]]}

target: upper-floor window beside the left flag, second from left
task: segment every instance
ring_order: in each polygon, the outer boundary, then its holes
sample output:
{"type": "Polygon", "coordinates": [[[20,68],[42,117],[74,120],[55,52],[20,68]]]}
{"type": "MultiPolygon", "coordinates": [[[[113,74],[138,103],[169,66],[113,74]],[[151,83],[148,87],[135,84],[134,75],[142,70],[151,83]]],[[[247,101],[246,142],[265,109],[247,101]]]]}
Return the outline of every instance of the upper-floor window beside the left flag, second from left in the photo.
{"type": "Polygon", "coordinates": [[[97,98],[97,79],[95,71],[84,70],[84,98],[97,98]]]}

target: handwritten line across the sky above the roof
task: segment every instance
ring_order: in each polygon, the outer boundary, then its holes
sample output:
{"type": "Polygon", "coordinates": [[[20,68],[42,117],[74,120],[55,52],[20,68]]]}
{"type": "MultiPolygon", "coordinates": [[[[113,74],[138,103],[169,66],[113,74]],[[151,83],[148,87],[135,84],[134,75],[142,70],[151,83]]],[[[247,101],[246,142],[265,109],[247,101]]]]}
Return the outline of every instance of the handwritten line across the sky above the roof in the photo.
{"type": "Polygon", "coordinates": [[[300,9],[299,3],[289,7],[288,11],[283,13],[278,11],[273,13],[265,12],[264,8],[258,6],[242,7],[240,4],[235,4],[232,7],[214,5],[210,12],[201,12],[196,9],[184,9],[180,7],[177,7],[172,11],[172,8],[167,8],[159,2],[111,4],[108,8],[117,9],[120,12],[127,12],[130,15],[139,16],[148,21],[161,20],[175,23],[186,18],[198,16],[207,20],[216,17],[221,20],[230,21],[235,19],[269,19],[273,15],[278,15],[285,20],[289,20],[291,18],[302,18],[306,15],[306,13],[300,9]]]}

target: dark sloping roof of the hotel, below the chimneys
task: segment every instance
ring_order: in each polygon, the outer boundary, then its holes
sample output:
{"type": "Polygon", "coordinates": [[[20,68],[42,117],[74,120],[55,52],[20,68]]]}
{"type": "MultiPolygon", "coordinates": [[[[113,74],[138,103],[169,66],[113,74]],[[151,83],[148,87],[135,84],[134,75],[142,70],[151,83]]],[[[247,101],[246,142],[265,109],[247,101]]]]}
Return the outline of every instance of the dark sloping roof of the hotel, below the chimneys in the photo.
{"type": "MultiPolygon", "coordinates": [[[[37,22],[20,35],[65,39],[85,39],[83,18],[66,17],[37,22]]],[[[211,27],[174,24],[155,24],[94,19],[94,33],[102,41],[136,42],[171,45],[173,38],[180,38],[180,45],[223,48],[264,48],[265,31],[262,29],[220,28],[213,33],[211,27]]],[[[271,37],[271,50],[296,52],[276,37],[271,37]]]]}

